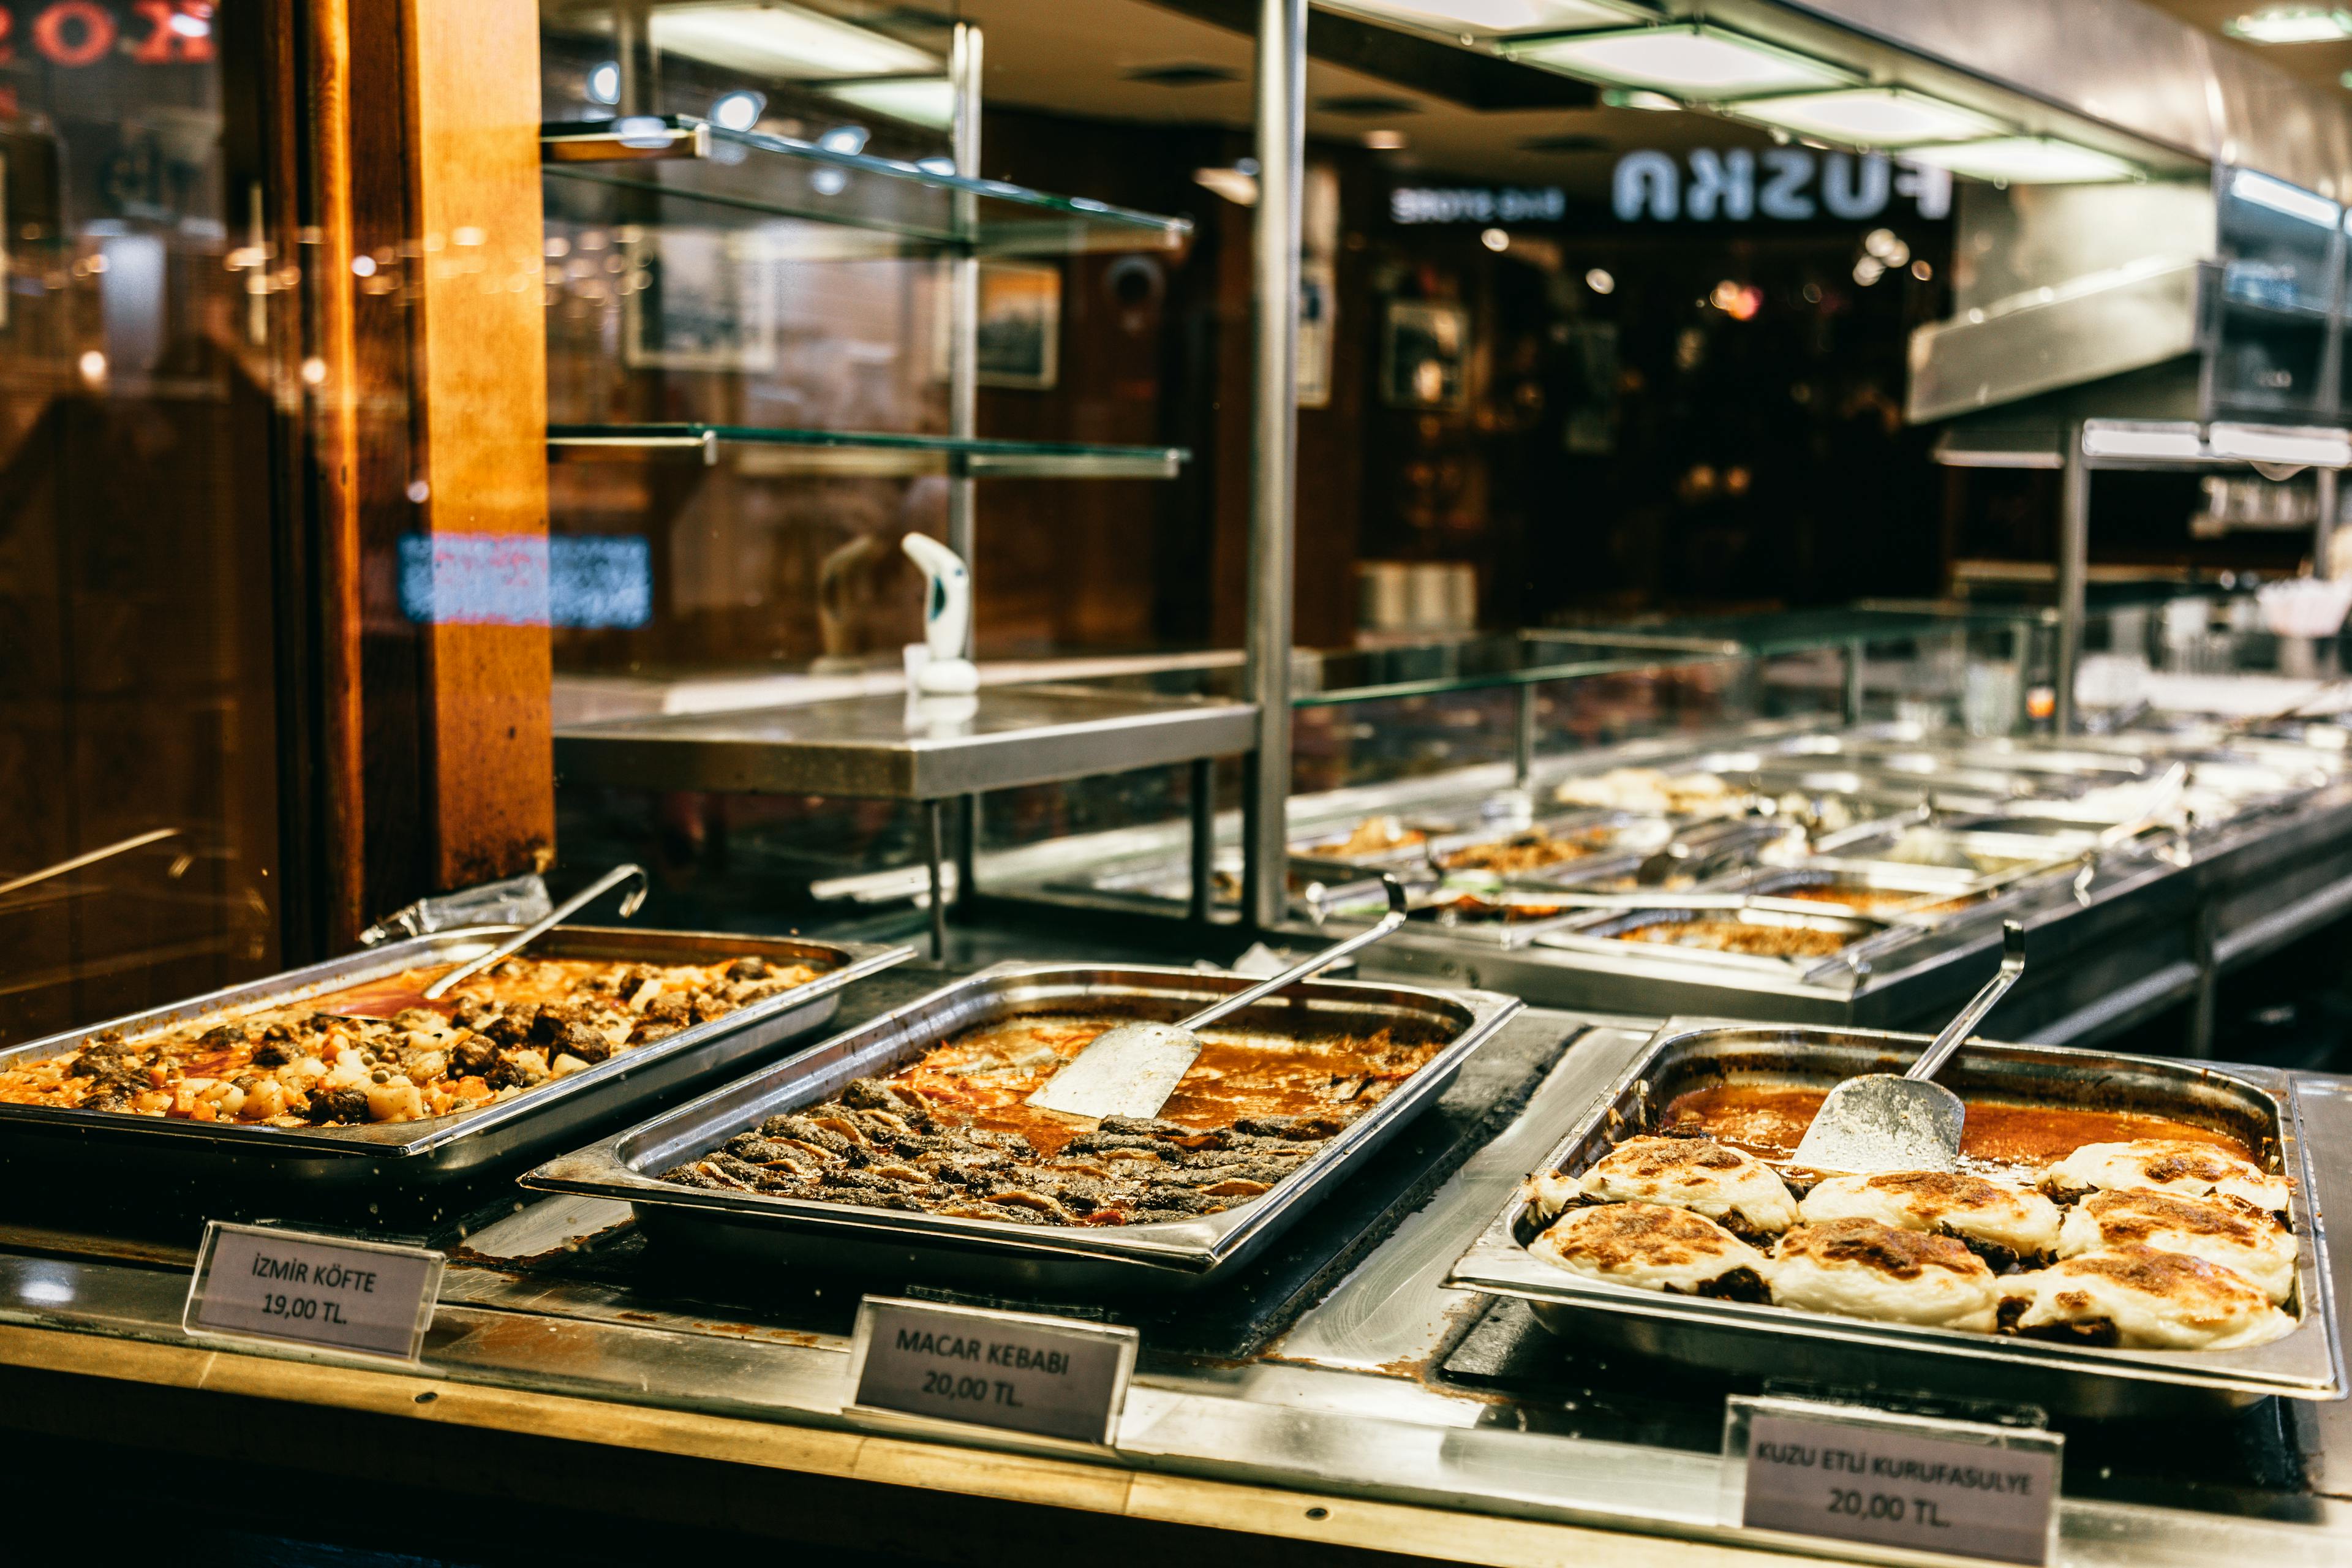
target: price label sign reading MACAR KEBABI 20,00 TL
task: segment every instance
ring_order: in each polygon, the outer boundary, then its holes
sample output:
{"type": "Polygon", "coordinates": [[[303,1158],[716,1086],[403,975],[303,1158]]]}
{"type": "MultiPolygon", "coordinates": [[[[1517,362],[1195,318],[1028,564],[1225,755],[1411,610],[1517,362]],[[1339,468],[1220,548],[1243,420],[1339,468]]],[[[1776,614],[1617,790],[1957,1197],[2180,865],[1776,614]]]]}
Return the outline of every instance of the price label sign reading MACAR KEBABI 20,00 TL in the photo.
{"type": "Polygon", "coordinates": [[[1077,1443],[1110,1443],[1136,1371],[1134,1328],[868,1295],[849,1403],[1077,1443]]]}

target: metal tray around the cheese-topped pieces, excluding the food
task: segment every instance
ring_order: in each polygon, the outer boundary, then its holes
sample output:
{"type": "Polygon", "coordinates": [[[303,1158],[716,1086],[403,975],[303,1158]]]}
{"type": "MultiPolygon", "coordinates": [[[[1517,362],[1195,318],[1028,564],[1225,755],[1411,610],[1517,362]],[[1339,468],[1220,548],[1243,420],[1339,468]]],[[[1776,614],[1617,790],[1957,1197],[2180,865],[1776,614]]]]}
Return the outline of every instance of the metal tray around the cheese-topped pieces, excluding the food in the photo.
{"type": "MultiPolygon", "coordinates": [[[[1670,1018],[1578,1114],[1541,1171],[1585,1171],[1618,1140],[1649,1131],[1663,1107],[1693,1086],[1769,1081],[1828,1088],[1856,1072],[1900,1072],[1926,1039],[1879,1030],[1670,1018]]],[[[1534,1258],[1519,1232],[1524,1192],[1512,1194],[1461,1255],[1449,1284],[1526,1300],[1545,1328],[1573,1335],[1585,1347],[1630,1349],[1733,1375],[2020,1399],[2096,1418],[2237,1408],[2270,1394],[2343,1399],[2326,1237],[2312,1201],[2312,1159],[2291,1074],[1971,1039],[1938,1081],[1983,1098],[2154,1112],[2244,1138],[2258,1159],[2286,1173],[2296,1187],[2291,1218],[2300,1239],[2300,1326],[2284,1340],[2253,1349],[2093,1349],[1665,1295],[1581,1279],[1534,1258]]]]}

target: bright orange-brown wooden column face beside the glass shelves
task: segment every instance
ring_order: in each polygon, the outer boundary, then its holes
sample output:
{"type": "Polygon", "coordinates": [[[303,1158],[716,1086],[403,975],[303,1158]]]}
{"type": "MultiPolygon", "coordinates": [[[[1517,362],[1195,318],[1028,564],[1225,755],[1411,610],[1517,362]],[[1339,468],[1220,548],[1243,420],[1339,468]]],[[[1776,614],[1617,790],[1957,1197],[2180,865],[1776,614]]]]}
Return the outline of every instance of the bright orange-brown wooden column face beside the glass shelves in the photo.
{"type": "Polygon", "coordinates": [[[468,571],[517,574],[515,623],[426,630],[430,877],[447,889],[555,856],[546,599],[527,602],[548,538],[539,5],[407,0],[407,21],[423,520],[466,541],[468,571]]]}

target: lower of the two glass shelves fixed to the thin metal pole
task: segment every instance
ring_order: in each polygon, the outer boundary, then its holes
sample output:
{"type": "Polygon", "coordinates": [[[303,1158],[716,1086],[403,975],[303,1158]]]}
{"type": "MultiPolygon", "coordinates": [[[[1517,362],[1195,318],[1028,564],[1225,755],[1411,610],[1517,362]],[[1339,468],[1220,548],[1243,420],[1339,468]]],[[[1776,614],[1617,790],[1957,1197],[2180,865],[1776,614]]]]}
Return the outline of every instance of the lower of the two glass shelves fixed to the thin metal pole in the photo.
{"type": "Polygon", "coordinates": [[[769,425],[548,425],[548,447],[564,456],[694,454],[717,463],[720,447],[743,447],[753,475],[856,475],[971,480],[1174,480],[1192,458],[1183,447],[1087,447],[1009,442],[978,435],[901,435],[868,430],[781,430],[769,425]]]}

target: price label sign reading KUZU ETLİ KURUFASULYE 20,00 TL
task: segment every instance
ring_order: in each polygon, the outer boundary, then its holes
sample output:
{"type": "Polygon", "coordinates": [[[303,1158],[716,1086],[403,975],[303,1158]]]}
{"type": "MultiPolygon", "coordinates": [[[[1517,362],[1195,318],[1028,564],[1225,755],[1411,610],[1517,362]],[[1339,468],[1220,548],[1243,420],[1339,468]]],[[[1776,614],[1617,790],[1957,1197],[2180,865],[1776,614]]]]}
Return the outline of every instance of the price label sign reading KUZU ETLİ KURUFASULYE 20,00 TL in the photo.
{"type": "Polygon", "coordinates": [[[1724,1521],[1990,1563],[2049,1563],[2065,1436],[1731,1396],[1724,1521]]]}

